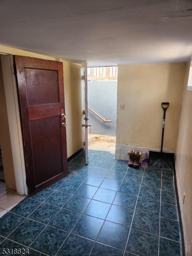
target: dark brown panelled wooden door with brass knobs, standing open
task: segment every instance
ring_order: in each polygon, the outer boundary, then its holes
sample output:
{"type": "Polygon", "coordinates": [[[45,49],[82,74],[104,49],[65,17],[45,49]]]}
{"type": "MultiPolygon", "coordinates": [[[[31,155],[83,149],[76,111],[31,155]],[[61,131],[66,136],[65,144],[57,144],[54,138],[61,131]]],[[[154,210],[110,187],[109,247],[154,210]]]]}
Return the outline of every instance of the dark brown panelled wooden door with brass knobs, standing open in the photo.
{"type": "Polygon", "coordinates": [[[63,64],[14,56],[29,195],[67,176],[63,64]],[[63,126],[62,126],[63,124],[63,126]]]}

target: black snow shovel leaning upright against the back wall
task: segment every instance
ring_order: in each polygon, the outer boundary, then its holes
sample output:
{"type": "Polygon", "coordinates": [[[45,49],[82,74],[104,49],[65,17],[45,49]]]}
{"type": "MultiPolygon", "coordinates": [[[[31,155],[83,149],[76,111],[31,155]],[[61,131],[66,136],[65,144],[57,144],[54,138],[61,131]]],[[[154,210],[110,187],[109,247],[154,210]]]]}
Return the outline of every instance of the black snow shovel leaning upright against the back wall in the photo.
{"type": "Polygon", "coordinates": [[[174,169],[175,160],[174,153],[164,153],[163,152],[163,137],[165,128],[165,117],[166,110],[169,107],[169,102],[162,102],[161,106],[163,108],[163,124],[162,124],[162,137],[161,137],[161,151],[149,151],[149,167],[160,168],[160,169],[174,169]]]}

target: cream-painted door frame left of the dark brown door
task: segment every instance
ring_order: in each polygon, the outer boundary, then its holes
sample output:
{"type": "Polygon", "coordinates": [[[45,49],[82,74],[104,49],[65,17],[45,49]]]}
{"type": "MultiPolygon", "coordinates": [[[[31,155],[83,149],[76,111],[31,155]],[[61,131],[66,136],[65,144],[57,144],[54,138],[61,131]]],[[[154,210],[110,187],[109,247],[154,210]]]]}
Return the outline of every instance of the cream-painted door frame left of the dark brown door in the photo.
{"type": "Polygon", "coordinates": [[[28,195],[13,55],[1,55],[1,64],[17,193],[20,195],[28,195]]]}

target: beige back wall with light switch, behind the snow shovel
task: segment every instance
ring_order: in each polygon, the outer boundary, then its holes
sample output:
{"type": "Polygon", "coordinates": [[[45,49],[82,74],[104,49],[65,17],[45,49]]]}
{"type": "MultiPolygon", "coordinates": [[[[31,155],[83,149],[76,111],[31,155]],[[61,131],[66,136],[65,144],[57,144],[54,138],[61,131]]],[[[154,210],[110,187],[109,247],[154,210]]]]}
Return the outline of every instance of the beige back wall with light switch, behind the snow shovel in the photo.
{"type": "Polygon", "coordinates": [[[185,63],[118,66],[116,144],[160,149],[161,102],[169,102],[163,149],[175,151],[185,68],[185,63]]]}

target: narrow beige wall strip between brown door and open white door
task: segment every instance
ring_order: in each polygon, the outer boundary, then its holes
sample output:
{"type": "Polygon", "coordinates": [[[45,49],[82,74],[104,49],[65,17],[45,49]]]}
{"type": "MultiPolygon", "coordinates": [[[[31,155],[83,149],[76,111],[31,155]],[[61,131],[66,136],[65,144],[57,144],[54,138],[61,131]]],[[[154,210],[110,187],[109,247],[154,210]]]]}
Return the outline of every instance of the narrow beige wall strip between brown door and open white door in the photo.
{"type": "Polygon", "coordinates": [[[67,157],[83,147],[82,66],[63,61],[65,113],[67,123],[67,157]]]}

